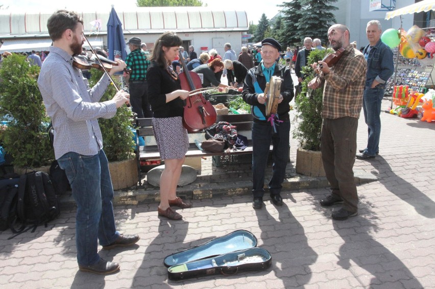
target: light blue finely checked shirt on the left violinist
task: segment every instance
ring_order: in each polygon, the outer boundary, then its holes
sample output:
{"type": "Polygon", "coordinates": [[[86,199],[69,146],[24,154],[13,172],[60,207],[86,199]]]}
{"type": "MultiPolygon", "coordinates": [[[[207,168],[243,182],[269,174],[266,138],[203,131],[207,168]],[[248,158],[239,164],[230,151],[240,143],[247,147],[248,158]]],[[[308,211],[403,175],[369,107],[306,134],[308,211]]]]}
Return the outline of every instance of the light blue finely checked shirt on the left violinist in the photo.
{"type": "Polygon", "coordinates": [[[116,114],[113,100],[99,102],[109,83],[109,77],[104,74],[88,90],[80,69],[72,66],[71,55],[50,47],[50,54],[42,63],[38,86],[53,122],[56,160],[70,151],[95,155],[103,148],[98,118],[116,114]]]}

